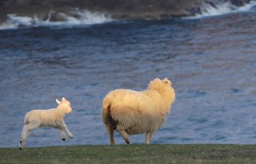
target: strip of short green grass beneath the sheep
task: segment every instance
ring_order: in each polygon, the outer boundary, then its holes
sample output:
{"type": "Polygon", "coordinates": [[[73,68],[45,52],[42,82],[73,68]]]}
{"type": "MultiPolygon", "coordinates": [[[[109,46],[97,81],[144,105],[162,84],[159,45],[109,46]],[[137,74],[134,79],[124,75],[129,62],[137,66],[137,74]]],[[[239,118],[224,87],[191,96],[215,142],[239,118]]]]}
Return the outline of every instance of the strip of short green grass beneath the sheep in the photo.
{"type": "Polygon", "coordinates": [[[256,163],[256,145],[0,148],[0,163],[256,163]]]}

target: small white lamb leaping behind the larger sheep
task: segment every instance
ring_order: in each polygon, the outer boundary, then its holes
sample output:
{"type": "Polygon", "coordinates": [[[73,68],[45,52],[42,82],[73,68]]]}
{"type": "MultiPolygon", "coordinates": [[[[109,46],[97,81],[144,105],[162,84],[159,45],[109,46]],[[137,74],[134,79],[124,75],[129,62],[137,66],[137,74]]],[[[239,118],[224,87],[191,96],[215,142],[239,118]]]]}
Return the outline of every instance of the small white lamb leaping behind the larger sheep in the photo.
{"type": "Polygon", "coordinates": [[[20,139],[19,149],[22,150],[25,146],[25,140],[30,134],[30,131],[37,127],[54,127],[61,131],[61,138],[63,141],[66,140],[64,131],[70,139],[74,136],[70,133],[64,122],[66,113],[72,112],[70,102],[62,97],[62,102],[56,99],[58,107],[51,108],[48,110],[33,110],[29,111],[25,115],[24,127],[22,128],[22,135],[20,139]]]}

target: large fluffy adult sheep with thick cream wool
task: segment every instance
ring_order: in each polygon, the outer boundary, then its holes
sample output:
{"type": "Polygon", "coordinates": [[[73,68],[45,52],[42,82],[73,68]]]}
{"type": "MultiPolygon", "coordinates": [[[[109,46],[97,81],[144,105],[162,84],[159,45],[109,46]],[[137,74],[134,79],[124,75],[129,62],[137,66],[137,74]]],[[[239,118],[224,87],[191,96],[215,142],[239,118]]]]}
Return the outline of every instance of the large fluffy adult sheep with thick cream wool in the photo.
{"type": "Polygon", "coordinates": [[[117,130],[126,143],[129,135],[146,133],[145,144],[150,144],[154,131],[163,125],[175,92],[170,80],[158,78],[150,81],[145,91],[115,89],[102,101],[102,120],[109,133],[110,145],[114,145],[117,130]]]}

